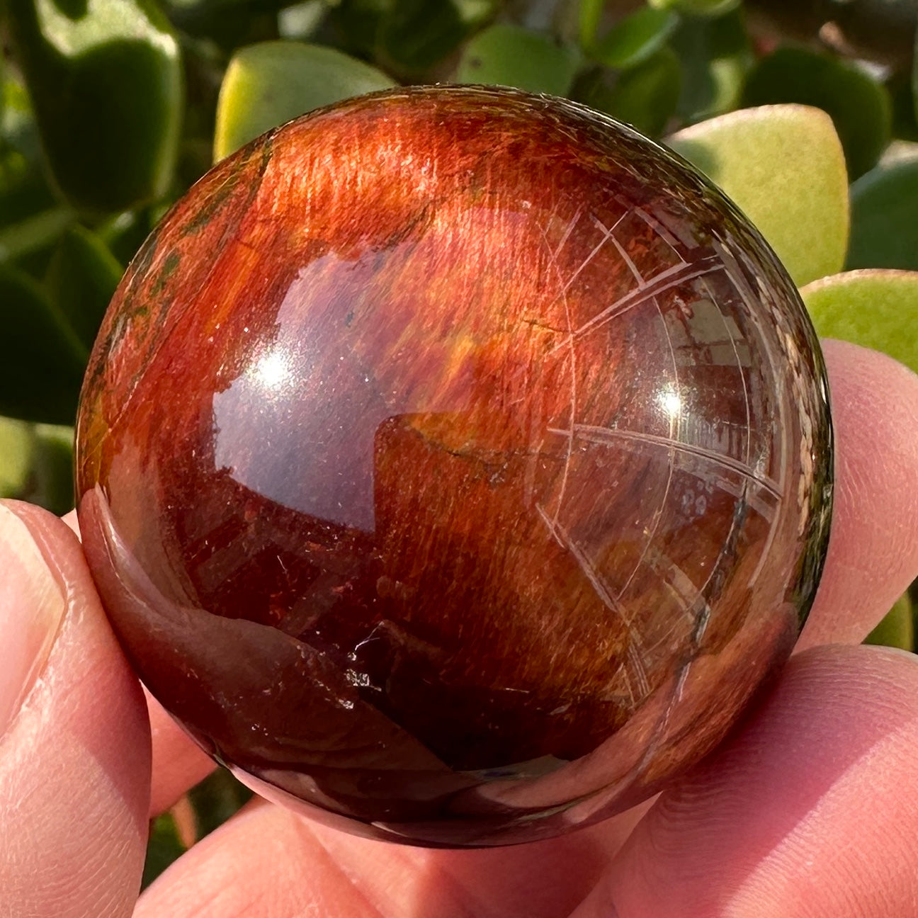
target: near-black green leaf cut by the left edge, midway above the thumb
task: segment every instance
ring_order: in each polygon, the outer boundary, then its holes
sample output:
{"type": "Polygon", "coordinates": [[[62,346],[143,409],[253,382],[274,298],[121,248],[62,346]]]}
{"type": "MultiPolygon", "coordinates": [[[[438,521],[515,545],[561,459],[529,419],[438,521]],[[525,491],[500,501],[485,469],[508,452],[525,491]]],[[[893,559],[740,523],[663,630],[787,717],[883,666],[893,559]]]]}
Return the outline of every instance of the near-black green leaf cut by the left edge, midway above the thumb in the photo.
{"type": "Polygon", "coordinates": [[[0,414],[55,424],[73,422],[88,352],[27,274],[0,267],[0,414]]]}

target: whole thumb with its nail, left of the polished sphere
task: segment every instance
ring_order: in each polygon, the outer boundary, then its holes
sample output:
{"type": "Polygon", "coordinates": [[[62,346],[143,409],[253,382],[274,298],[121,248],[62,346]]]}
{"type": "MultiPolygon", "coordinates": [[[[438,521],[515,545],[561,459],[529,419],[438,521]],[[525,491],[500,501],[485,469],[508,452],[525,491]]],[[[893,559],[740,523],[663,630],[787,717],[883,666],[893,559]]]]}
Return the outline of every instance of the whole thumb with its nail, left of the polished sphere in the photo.
{"type": "Polygon", "coordinates": [[[80,543],[0,502],[0,890],[5,915],[133,911],[150,728],[80,543]]]}

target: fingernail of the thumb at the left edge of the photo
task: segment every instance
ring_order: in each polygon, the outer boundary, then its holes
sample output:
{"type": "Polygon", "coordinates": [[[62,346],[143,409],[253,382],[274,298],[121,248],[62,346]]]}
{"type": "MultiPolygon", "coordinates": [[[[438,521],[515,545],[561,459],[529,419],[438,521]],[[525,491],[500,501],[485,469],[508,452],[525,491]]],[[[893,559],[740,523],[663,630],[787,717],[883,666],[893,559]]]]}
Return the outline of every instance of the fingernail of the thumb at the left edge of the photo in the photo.
{"type": "Polygon", "coordinates": [[[65,608],[28,527],[0,504],[0,736],[41,675],[65,608]]]}

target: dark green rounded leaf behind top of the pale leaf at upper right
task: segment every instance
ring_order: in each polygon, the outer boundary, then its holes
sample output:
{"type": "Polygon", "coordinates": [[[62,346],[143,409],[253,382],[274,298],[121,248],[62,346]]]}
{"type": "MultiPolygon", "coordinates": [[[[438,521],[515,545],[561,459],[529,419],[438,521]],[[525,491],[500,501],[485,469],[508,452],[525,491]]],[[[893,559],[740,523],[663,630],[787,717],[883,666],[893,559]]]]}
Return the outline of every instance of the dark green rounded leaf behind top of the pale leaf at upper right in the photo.
{"type": "Polygon", "coordinates": [[[753,69],[743,94],[745,106],[775,103],[828,112],[852,179],[872,168],[890,142],[890,94],[855,64],[800,48],[780,48],[753,69]]]}

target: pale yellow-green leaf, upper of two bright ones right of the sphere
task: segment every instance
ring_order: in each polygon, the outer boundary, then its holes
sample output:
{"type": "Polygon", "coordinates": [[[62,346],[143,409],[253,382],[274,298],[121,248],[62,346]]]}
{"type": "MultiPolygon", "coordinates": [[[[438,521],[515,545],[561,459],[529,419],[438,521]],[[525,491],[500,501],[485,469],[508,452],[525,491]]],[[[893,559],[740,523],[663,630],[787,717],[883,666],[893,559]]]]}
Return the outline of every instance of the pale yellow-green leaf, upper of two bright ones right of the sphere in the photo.
{"type": "Polygon", "coordinates": [[[744,109],[667,141],[750,218],[797,285],[845,263],[848,186],[832,121],[806,106],[744,109]]]}

